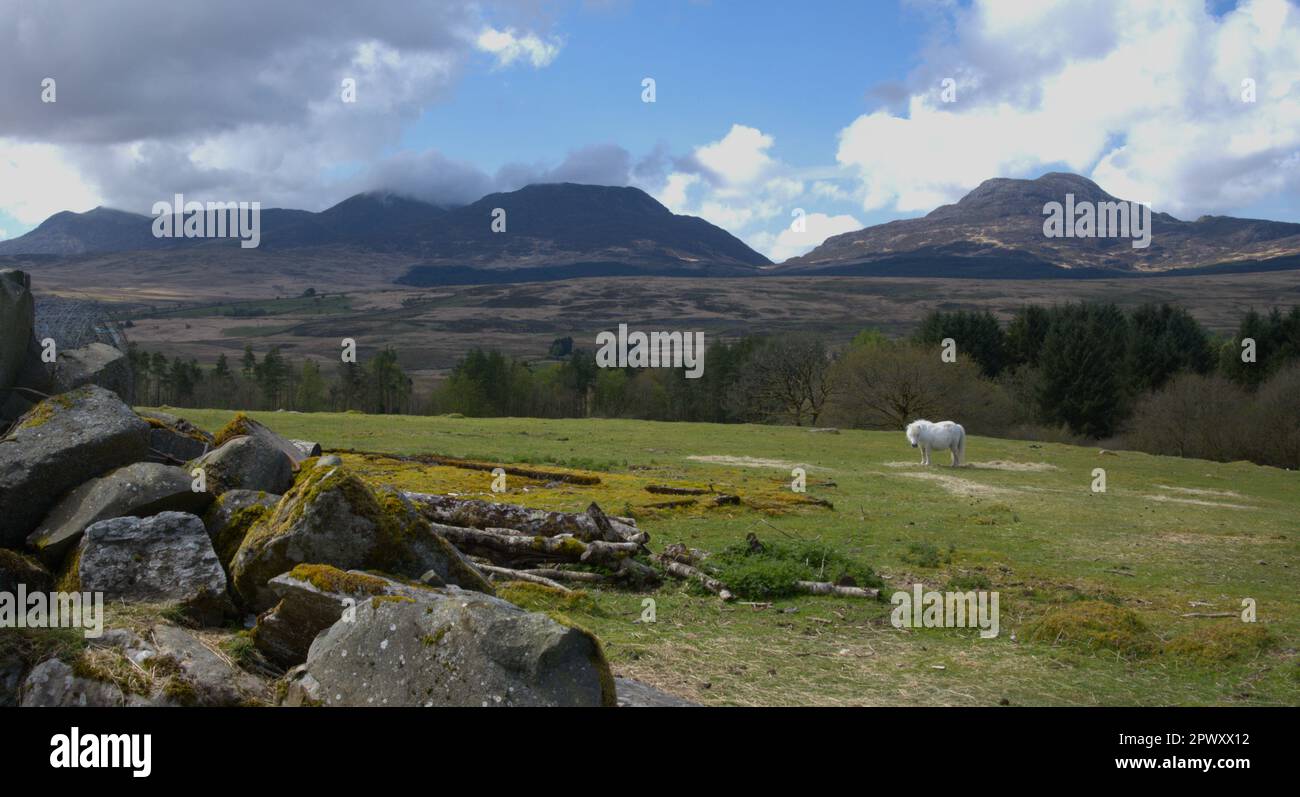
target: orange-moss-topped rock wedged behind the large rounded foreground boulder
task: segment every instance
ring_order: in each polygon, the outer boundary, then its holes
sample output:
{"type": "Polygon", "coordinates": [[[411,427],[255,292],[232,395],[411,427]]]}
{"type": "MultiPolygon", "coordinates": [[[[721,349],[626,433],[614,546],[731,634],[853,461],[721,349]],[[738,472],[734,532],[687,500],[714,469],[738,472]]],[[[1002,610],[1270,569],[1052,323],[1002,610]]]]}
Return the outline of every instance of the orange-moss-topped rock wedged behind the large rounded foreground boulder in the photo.
{"type": "Polygon", "coordinates": [[[299,564],[272,579],[269,586],[280,595],[280,603],[257,618],[252,638],[268,659],[282,667],[306,662],[316,636],[361,601],[377,595],[421,601],[441,594],[424,585],[361,571],[344,572],[328,564],[299,564]]]}

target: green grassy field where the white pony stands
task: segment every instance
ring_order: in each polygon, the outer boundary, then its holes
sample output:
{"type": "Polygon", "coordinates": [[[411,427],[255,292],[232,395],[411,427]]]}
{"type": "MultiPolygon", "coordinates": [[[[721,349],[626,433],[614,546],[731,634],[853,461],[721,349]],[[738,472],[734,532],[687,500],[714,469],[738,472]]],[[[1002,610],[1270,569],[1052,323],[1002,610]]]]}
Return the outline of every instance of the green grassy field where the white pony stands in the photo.
{"type": "MultiPolygon", "coordinates": [[[[231,415],[176,412],[207,429],[231,415]]],[[[974,629],[896,629],[884,601],[724,605],[675,581],[649,595],[654,623],[640,621],[647,595],[638,593],[593,592],[563,607],[603,640],[616,675],[702,703],[1300,703],[1295,472],[989,438],[970,439],[967,467],[922,468],[901,432],[354,413],[257,419],[326,449],[594,471],[594,486],[511,478],[500,498],[569,511],[597,501],[633,514],[655,550],[684,542],[718,551],[753,532],[764,542],[829,543],[893,589],[983,577],[1000,593],[1001,633],[991,640],[974,629]],[[807,469],[807,497],[833,508],[790,491],[794,465],[807,469]],[[1091,490],[1098,467],[1105,493],[1091,490]],[[651,484],[712,485],[746,503],[649,508],[666,498],[647,493],[651,484]],[[1257,605],[1254,625],[1184,616],[1239,612],[1243,598],[1257,605]],[[1037,623],[1070,627],[1093,616],[1095,602],[1134,612],[1152,644],[1031,641],[1045,625],[1037,623]]],[[[406,489],[491,497],[484,472],[346,460],[406,489]]]]}

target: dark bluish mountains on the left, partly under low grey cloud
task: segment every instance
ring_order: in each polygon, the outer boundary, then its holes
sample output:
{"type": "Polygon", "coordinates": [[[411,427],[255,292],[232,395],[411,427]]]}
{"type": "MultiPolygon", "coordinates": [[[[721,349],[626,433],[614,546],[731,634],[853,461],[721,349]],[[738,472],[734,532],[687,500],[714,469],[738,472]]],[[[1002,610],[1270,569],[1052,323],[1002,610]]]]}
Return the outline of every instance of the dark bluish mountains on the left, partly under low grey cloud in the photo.
{"type": "MultiPolygon", "coordinates": [[[[0,242],[0,255],[172,250],[185,259],[182,251],[207,256],[238,247],[233,239],[159,239],[152,221],[108,208],[62,212],[26,235],[0,242]]],[[[420,267],[416,273],[426,277],[441,268],[510,270],[601,263],[636,273],[714,273],[748,272],[771,263],[725,230],[677,216],[640,189],[575,183],[526,186],[451,211],[389,192],[359,194],[320,213],[266,208],[259,248],[268,254],[330,248],[407,255],[420,267]],[[504,231],[493,231],[497,208],[506,212],[504,231]]]]}

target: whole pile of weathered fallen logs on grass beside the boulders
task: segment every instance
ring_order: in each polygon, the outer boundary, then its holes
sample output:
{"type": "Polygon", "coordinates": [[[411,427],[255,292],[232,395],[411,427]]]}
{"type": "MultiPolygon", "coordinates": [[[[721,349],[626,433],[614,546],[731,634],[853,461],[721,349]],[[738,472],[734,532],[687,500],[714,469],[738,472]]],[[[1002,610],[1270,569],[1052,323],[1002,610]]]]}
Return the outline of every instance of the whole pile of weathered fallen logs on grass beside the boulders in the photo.
{"type": "MultiPolygon", "coordinates": [[[[585,512],[550,512],[430,493],[403,495],[433,530],[491,576],[560,590],[569,589],[566,584],[654,586],[660,571],[636,558],[644,554],[675,579],[694,581],[723,601],[734,598],[725,584],[699,567],[707,554],[680,543],[653,553],[646,546],[650,536],[634,519],[606,515],[595,503],[585,512]]],[[[874,589],[824,581],[798,581],[796,588],[809,594],[876,595],[874,589]]]]}

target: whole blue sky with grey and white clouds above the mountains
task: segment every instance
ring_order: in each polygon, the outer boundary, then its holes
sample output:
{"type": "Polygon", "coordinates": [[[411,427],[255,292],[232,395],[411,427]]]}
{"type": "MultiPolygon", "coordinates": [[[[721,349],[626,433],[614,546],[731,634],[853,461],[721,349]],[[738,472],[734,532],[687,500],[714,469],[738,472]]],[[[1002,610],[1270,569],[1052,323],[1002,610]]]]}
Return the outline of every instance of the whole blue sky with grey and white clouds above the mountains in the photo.
{"type": "Polygon", "coordinates": [[[0,238],[174,192],[315,211],[572,179],[783,260],[1049,170],[1183,218],[1300,221],[1296,0],[159,8],[0,14],[0,238]]]}

